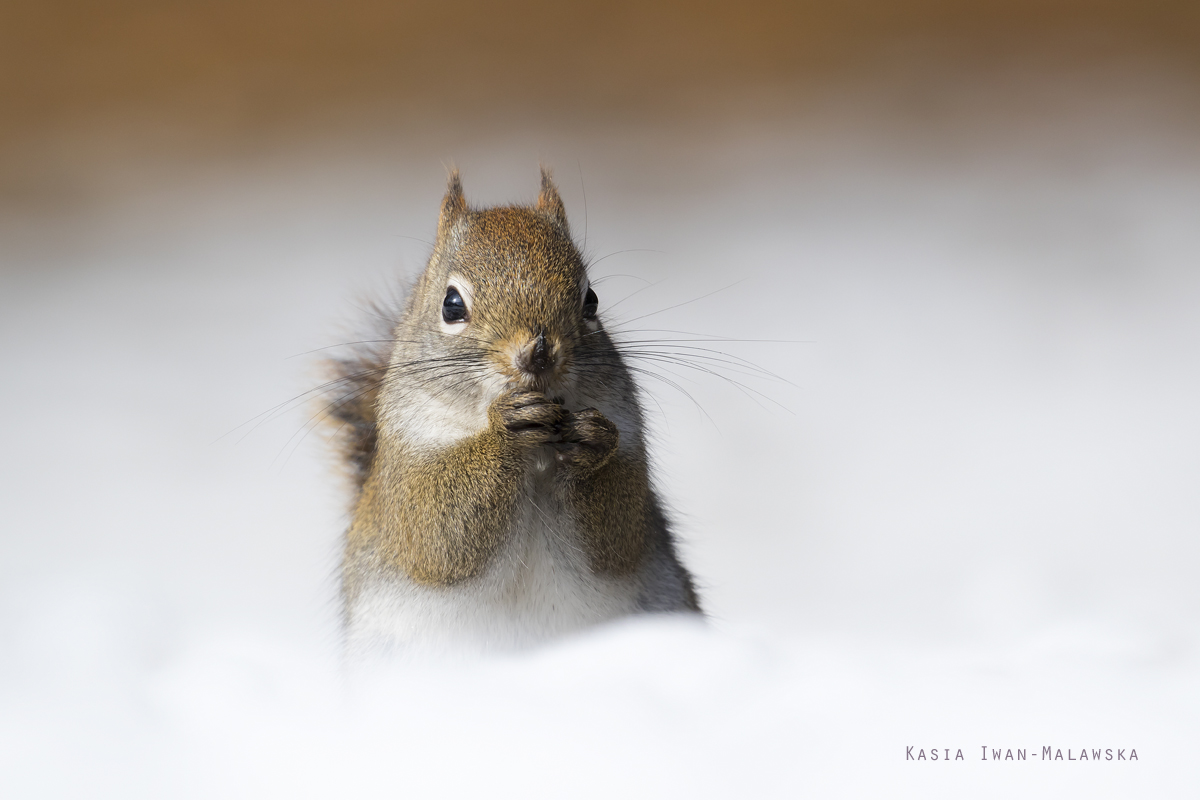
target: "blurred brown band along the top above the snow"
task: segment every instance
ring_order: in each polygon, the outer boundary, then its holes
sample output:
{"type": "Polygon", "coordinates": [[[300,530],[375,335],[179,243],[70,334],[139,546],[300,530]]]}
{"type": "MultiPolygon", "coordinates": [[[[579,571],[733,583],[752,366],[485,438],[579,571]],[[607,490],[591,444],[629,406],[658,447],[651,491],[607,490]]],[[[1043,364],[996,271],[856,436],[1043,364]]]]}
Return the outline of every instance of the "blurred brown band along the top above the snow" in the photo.
{"type": "Polygon", "coordinates": [[[895,106],[936,116],[947,79],[1130,61],[1196,85],[1200,4],[8,0],[0,203],[79,201],[101,162],[245,156],[365,128],[752,120],[898,70],[917,77],[895,106]]]}

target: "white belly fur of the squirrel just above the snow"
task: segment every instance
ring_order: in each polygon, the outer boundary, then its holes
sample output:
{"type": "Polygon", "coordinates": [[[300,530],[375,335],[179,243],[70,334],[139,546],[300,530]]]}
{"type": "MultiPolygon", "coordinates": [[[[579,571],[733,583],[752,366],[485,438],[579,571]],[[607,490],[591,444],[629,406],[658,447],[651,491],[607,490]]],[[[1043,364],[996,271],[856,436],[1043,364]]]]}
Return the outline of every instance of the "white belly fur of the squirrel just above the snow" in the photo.
{"type": "Polygon", "coordinates": [[[367,582],[347,609],[347,648],[352,656],[511,650],[634,613],[637,594],[634,578],[593,575],[565,515],[529,497],[481,576],[454,587],[367,582]]]}

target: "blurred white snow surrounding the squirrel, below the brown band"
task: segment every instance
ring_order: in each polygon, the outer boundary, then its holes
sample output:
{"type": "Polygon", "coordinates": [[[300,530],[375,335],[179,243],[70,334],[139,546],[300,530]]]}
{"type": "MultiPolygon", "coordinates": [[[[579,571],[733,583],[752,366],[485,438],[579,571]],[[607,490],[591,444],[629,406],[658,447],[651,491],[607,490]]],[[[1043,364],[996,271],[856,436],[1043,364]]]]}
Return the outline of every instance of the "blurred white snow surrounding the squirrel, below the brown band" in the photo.
{"type": "Polygon", "coordinates": [[[1200,126],[1153,77],[1006,80],[5,210],[0,795],[1194,796],[1200,126]],[[310,407],[256,415],[420,267],[448,157],[480,204],[554,164],[630,336],[788,341],[720,347],[790,383],[646,386],[708,626],[340,673],[340,487],[310,407]]]}

